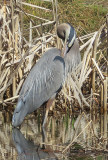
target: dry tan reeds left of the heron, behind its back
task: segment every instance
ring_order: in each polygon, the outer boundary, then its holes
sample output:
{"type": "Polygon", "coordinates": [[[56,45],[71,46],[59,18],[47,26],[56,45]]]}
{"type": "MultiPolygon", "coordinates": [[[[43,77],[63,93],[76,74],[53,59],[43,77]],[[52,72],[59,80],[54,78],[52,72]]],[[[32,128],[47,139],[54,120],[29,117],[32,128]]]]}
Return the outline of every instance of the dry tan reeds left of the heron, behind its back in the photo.
{"type": "MultiPolygon", "coordinates": [[[[5,2],[6,3],[6,2],[5,2]]],[[[20,1],[19,4],[29,5],[30,7],[38,7],[35,5],[23,3],[20,1]]],[[[23,37],[23,30],[21,28],[20,19],[23,13],[19,14],[17,10],[17,5],[11,3],[10,6],[4,4],[1,6],[0,13],[0,102],[1,104],[6,104],[8,102],[13,102],[18,98],[19,90],[23,84],[25,77],[33,66],[33,61],[36,63],[38,58],[44,51],[52,47],[55,43],[55,34],[53,33],[43,33],[40,37],[33,39],[32,30],[36,29],[38,32],[38,27],[51,25],[55,23],[55,20],[43,22],[40,25],[32,27],[32,19],[29,17],[29,39],[28,37],[23,37]],[[14,8],[14,9],[13,9],[14,8]],[[27,39],[26,39],[27,38],[27,39]],[[4,98],[4,95],[6,96],[4,98]]],[[[46,12],[49,11],[43,7],[39,9],[44,9],[46,12]]],[[[53,13],[52,13],[53,14],[53,13]]],[[[36,17],[37,19],[46,21],[45,19],[36,17]]],[[[22,20],[22,19],[21,19],[22,20]]],[[[22,20],[23,21],[23,20],[22,20]]],[[[23,26],[23,25],[22,25],[23,26]]],[[[26,31],[28,32],[28,31],[26,31]]]]}

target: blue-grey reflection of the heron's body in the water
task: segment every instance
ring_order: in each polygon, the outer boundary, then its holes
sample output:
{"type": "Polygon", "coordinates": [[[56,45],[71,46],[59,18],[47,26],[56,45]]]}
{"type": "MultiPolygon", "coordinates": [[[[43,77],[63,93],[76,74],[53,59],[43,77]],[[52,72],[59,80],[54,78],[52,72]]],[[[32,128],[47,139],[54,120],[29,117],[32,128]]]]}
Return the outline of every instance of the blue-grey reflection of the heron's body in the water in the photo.
{"type": "Polygon", "coordinates": [[[26,140],[18,129],[13,129],[12,137],[18,152],[18,160],[57,160],[53,152],[43,150],[39,145],[26,140]]]}

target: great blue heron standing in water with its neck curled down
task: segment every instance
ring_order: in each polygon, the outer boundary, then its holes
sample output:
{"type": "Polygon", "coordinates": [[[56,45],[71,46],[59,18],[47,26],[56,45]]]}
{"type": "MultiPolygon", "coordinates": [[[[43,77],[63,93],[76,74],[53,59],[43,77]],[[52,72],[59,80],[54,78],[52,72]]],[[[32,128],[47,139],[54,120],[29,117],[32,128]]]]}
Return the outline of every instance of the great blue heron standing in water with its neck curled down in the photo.
{"type": "Polygon", "coordinates": [[[67,74],[80,62],[79,44],[74,28],[68,23],[63,23],[57,27],[57,35],[64,40],[64,57],[59,49],[49,49],[31,69],[22,86],[13,114],[14,127],[19,126],[27,114],[46,103],[44,126],[49,108],[61,90],[67,74]]]}

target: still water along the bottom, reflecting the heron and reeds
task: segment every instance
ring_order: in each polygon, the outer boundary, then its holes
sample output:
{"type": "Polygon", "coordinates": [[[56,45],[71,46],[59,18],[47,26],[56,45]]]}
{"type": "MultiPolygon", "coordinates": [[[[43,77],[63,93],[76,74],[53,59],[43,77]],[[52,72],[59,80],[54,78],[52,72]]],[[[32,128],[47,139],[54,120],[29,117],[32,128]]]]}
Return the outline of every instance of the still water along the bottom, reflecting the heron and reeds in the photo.
{"type": "Polygon", "coordinates": [[[40,115],[12,129],[10,114],[0,112],[0,160],[108,160],[107,114],[57,113],[45,130],[40,115]]]}

